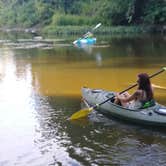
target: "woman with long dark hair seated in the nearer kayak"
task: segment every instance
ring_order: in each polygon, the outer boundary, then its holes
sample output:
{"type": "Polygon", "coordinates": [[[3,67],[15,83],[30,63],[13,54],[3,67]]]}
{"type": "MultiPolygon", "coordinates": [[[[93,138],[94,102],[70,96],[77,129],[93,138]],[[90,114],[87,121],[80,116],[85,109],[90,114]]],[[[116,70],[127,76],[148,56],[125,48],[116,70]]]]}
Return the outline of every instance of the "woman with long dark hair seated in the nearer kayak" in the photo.
{"type": "Polygon", "coordinates": [[[130,95],[125,92],[116,94],[114,103],[129,109],[147,108],[154,105],[154,94],[148,74],[138,74],[138,89],[130,95]]]}

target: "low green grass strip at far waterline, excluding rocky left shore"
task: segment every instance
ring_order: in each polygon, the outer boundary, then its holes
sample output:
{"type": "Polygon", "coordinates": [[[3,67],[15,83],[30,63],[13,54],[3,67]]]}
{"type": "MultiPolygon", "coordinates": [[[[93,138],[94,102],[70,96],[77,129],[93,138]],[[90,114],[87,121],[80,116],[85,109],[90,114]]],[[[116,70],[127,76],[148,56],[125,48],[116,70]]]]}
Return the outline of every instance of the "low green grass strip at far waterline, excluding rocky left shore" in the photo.
{"type": "MultiPolygon", "coordinates": [[[[41,30],[41,33],[48,35],[82,35],[91,31],[90,26],[48,26],[41,30]]],[[[94,31],[94,34],[143,34],[143,33],[165,33],[162,27],[154,26],[101,26],[94,31]]]]}

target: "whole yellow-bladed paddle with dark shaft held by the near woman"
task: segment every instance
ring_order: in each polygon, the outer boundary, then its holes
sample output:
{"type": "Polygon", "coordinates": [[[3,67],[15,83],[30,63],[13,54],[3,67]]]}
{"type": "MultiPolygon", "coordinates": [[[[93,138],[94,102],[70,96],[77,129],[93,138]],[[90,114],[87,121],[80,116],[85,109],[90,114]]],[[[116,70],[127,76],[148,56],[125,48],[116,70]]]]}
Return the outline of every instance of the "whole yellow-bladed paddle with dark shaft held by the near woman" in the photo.
{"type": "MultiPolygon", "coordinates": [[[[150,75],[149,78],[152,78],[152,77],[154,77],[154,76],[156,76],[156,75],[158,75],[158,74],[160,74],[160,73],[162,73],[162,72],[164,72],[164,71],[166,71],[166,67],[163,67],[163,68],[162,68],[161,70],[159,70],[158,72],[156,72],[156,73],[150,75]]],[[[126,92],[126,91],[128,91],[128,90],[130,90],[130,89],[132,89],[132,88],[134,88],[135,86],[137,86],[137,83],[134,84],[134,85],[132,85],[132,86],[130,86],[130,87],[128,87],[127,89],[121,91],[119,94],[122,94],[122,93],[124,93],[124,92],[126,92]]],[[[79,119],[79,118],[86,117],[93,109],[98,108],[100,105],[102,105],[102,104],[104,104],[104,103],[110,101],[110,100],[113,99],[114,97],[115,97],[115,96],[112,96],[112,97],[108,98],[107,100],[104,100],[103,102],[101,102],[101,103],[99,103],[99,104],[95,104],[94,106],[92,106],[92,107],[90,107],[90,108],[82,109],[82,110],[80,110],[80,111],[74,113],[69,119],[70,119],[70,120],[76,120],[76,119],[79,119]]]]}

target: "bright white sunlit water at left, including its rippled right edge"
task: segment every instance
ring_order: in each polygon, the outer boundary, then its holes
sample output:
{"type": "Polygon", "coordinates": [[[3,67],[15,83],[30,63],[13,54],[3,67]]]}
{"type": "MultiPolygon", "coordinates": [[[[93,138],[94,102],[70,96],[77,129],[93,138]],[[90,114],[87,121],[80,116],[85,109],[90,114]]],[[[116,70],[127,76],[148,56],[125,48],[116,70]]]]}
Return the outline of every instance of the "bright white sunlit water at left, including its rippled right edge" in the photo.
{"type": "Polygon", "coordinates": [[[52,108],[47,97],[35,94],[30,64],[23,74],[13,52],[5,53],[0,59],[0,165],[79,165],[63,146],[69,141],[59,131],[57,118],[63,110],[52,108]]]}

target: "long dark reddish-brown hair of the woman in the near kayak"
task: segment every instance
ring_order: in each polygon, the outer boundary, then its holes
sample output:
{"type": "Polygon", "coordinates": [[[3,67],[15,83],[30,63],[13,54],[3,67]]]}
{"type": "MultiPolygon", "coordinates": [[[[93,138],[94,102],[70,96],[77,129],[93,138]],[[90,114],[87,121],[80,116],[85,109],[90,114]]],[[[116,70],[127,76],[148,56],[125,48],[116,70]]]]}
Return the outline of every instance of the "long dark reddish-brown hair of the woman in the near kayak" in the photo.
{"type": "Polygon", "coordinates": [[[138,78],[139,78],[138,89],[142,89],[146,92],[148,100],[153,99],[153,90],[148,74],[146,73],[138,74],[138,78]]]}

